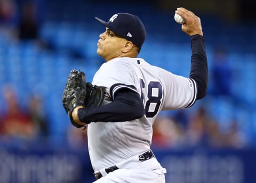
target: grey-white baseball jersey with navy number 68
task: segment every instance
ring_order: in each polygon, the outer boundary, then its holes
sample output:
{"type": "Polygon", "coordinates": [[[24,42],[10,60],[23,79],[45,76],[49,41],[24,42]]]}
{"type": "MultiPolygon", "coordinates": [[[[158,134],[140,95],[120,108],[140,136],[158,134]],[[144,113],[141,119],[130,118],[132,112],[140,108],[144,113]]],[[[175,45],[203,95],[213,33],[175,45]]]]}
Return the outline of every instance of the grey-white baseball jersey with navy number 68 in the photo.
{"type": "Polygon", "coordinates": [[[106,87],[104,103],[115,99],[120,88],[139,93],[145,105],[143,117],[126,122],[91,122],[88,146],[94,171],[150,149],[153,123],[159,111],[190,107],[196,101],[196,82],[177,76],[140,58],[121,57],[103,63],[93,85],[106,87]]]}

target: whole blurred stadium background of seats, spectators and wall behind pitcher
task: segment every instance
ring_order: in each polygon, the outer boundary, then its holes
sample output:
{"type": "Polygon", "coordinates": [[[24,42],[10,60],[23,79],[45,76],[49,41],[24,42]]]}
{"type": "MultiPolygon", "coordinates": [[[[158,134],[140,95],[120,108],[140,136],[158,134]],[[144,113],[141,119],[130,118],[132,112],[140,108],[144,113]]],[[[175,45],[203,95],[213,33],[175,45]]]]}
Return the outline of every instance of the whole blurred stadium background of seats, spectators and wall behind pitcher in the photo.
{"type": "Polygon", "coordinates": [[[137,14],[140,57],[185,77],[190,38],[177,7],[201,18],[207,96],[161,112],[152,148],[166,182],[255,182],[256,15],[250,0],[0,0],[0,182],[92,182],[86,130],[71,126],[61,98],[71,69],[88,81],[103,63],[94,17],[137,14]]]}

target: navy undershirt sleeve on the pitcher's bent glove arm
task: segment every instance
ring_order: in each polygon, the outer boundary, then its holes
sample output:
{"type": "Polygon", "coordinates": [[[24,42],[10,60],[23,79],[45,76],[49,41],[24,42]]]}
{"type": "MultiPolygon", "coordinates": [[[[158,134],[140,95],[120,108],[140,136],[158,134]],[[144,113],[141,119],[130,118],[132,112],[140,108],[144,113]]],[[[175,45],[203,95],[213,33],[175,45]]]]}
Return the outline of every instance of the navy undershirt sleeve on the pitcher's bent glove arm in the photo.
{"type": "Polygon", "coordinates": [[[130,121],[141,118],[143,114],[144,105],[140,95],[127,88],[116,91],[111,103],[78,110],[79,120],[85,123],[130,121]]]}

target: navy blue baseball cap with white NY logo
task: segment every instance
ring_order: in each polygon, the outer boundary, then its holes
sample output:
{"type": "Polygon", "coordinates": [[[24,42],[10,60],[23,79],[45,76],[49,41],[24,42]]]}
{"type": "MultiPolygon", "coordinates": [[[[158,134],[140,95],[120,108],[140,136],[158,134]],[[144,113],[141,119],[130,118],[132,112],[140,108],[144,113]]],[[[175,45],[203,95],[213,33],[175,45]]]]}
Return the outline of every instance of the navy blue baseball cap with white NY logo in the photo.
{"type": "Polygon", "coordinates": [[[129,13],[117,13],[111,16],[108,22],[95,17],[100,23],[109,28],[115,34],[132,41],[141,47],[146,38],[146,29],[137,15],[129,13]]]}

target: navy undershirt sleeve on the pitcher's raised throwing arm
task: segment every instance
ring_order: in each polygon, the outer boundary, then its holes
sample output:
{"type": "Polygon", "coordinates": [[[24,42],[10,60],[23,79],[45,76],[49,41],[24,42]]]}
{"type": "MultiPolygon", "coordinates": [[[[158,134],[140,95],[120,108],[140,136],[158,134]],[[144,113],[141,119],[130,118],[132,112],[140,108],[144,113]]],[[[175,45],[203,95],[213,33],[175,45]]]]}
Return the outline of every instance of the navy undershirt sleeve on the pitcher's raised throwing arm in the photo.
{"type": "Polygon", "coordinates": [[[200,99],[206,95],[208,83],[208,66],[205,52],[204,37],[201,35],[191,36],[191,49],[192,56],[190,78],[193,78],[196,81],[196,99],[200,99]]]}

